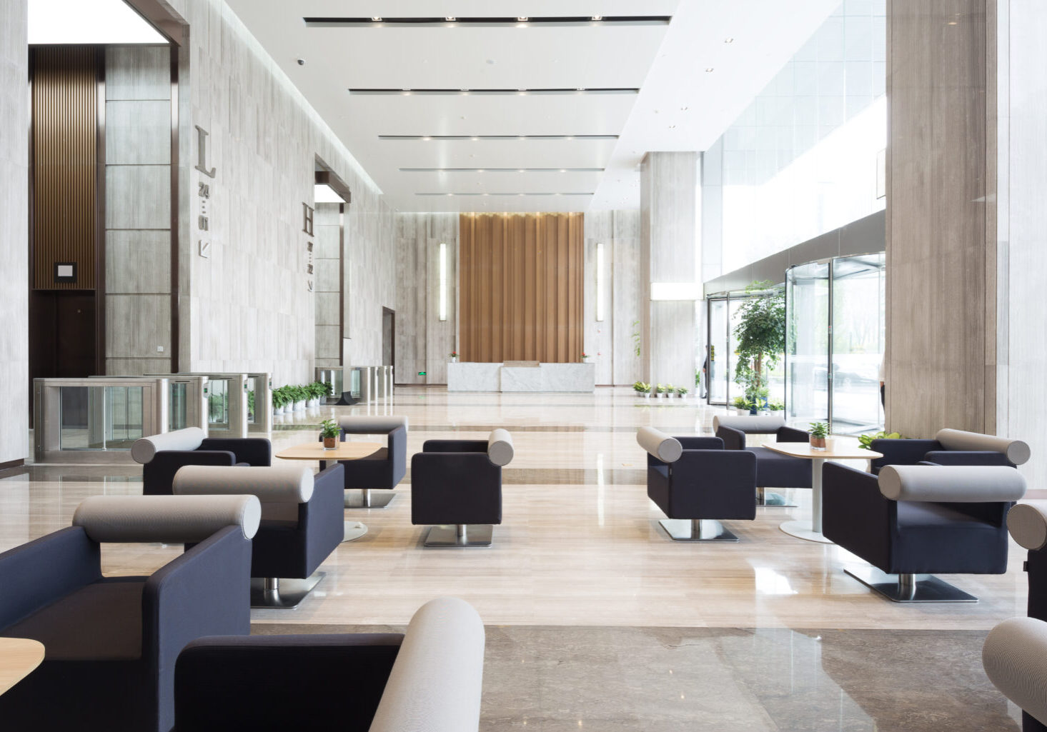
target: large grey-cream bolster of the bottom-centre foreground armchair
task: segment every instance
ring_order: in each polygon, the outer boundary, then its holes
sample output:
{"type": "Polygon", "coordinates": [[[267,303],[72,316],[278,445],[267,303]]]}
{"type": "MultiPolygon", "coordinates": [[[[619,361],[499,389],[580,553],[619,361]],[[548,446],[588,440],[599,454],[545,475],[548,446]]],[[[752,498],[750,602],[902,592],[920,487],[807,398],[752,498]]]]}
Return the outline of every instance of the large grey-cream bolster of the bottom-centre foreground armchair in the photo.
{"type": "Polygon", "coordinates": [[[456,597],[430,600],[410,619],[369,730],[475,731],[483,681],[480,615],[456,597]]]}

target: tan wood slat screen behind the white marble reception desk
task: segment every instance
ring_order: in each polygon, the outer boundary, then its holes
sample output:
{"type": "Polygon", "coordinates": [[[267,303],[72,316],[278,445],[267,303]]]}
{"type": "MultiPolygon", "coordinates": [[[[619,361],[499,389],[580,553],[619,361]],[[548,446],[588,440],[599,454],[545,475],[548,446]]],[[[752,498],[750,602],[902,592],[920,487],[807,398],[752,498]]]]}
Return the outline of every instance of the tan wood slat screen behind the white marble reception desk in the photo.
{"type": "Polygon", "coordinates": [[[581,361],[583,222],[581,213],[461,215],[462,361],[581,361]]]}

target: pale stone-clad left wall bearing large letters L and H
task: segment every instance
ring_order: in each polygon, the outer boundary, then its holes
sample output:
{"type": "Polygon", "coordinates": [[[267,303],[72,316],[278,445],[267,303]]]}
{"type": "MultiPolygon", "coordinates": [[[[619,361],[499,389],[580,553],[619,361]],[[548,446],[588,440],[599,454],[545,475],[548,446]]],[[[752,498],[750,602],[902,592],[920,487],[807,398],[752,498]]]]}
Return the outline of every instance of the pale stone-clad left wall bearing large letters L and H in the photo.
{"type": "Polygon", "coordinates": [[[382,306],[395,307],[393,212],[350,152],[222,0],[172,0],[190,24],[180,58],[180,368],[267,370],[310,381],[314,296],[303,202],[319,156],[352,190],[346,216],[348,359],[381,362],[382,306]],[[207,130],[214,180],[194,169],[207,130]],[[197,184],[211,185],[211,255],[197,251],[197,184]]]}

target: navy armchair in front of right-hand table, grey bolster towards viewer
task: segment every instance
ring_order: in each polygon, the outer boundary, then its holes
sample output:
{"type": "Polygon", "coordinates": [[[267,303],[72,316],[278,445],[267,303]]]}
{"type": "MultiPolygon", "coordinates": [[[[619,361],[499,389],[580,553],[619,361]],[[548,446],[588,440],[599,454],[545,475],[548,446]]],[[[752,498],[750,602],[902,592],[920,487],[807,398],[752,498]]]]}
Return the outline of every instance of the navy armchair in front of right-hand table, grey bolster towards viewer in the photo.
{"type": "Polygon", "coordinates": [[[1012,468],[887,465],[879,476],[823,468],[822,530],[868,562],[847,569],[895,602],[975,602],[933,576],[1007,571],[1007,511],[1025,495],[1012,468]]]}

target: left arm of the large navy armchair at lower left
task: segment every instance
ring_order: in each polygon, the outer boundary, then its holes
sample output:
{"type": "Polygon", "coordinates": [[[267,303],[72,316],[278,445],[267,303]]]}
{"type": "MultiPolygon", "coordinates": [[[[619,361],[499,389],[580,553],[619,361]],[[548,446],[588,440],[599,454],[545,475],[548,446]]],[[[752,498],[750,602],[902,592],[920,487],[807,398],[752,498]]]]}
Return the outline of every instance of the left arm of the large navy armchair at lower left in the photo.
{"type": "Polygon", "coordinates": [[[0,628],[102,578],[98,545],[70,526],[0,554],[0,628]]]}

